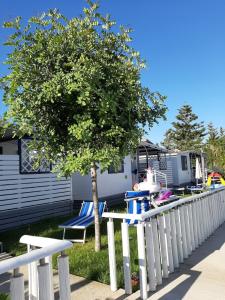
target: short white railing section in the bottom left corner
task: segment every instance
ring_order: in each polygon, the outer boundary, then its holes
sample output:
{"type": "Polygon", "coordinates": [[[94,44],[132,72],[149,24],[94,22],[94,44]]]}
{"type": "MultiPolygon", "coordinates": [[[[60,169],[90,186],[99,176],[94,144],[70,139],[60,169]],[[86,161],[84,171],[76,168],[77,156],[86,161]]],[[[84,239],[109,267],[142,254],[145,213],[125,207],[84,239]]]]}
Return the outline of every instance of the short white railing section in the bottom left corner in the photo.
{"type": "Polygon", "coordinates": [[[69,300],[69,260],[65,250],[72,243],[65,240],[24,235],[20,242],[27,244],[28,253],[0,262],[0,274],[12,271],[10,279],[11,300],[24,300],[24,274],[22,266],[28,265],[29,300],[53,300],[53,273],[51,258],[55,253],[58,257],[59,294],[60,300],[69,300]]]}

